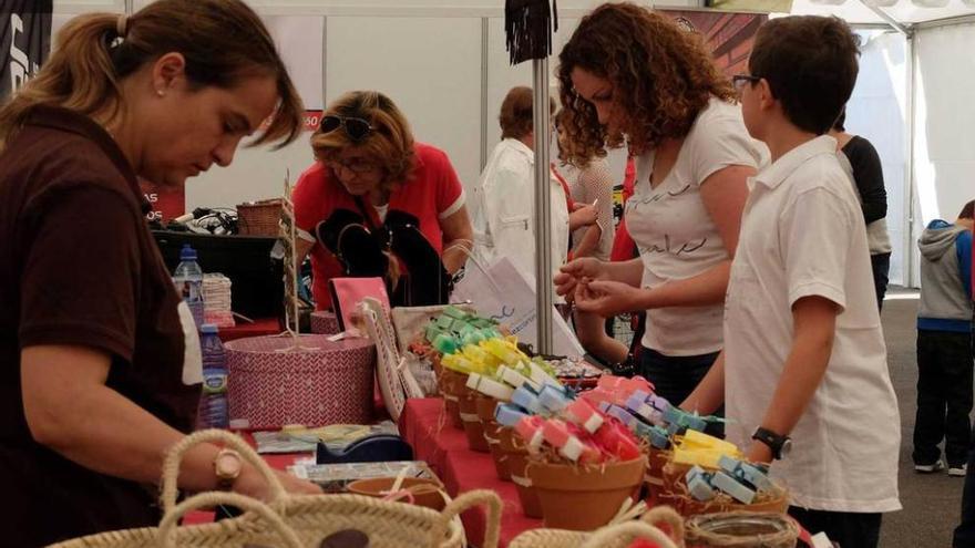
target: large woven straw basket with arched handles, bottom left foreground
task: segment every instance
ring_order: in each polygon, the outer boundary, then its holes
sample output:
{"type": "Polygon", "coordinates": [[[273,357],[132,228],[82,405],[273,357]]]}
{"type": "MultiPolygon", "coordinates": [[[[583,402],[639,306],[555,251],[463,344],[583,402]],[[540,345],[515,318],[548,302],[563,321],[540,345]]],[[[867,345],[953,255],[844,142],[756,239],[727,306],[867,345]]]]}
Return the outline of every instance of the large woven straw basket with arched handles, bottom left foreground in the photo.
{"type": "Polygon", "coordinates": [[[321,540],[342,529],[369,536],[370,548],[463,548],[466,545],[460,514],[488,506],[484,547],[495,548],[501,527],[501,500],[490,490],[465,493],[442,513],[362,495],[288,495],[274,472],[243,440],[224,431],[203,431],[186,436],[170,451],[163,467],[163,510],[160,527],[101,533],[53,545],[54,548],[157,548],[173,546],[244,548],[317,548],[321,540]],[[232,446],[267,479],[266,505],[234,493],[205,493],[176,505],[179,462],[191,447],[205,442],[232,446]],[[214,524],[176,527],[179,518],[196,508],[229,504],[245,509],[240,517],[214,524]]]}

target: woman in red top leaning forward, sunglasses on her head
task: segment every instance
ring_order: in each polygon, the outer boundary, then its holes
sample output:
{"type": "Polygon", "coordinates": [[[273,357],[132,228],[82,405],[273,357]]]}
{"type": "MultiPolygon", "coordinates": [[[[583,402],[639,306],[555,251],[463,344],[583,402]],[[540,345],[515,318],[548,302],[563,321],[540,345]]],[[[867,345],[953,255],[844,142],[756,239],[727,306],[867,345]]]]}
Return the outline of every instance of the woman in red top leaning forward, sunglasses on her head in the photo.
{"type": "Polygon", "coordinates": [[[445,303],[473,231],[447,154],[413,139],[397,105],[376,91],[349,92],[311,137],[317,162],[295,188],[297,257],[311,252],[312,293],[330,309],[328,281],[387,280],[393,304],[445,303]]]}

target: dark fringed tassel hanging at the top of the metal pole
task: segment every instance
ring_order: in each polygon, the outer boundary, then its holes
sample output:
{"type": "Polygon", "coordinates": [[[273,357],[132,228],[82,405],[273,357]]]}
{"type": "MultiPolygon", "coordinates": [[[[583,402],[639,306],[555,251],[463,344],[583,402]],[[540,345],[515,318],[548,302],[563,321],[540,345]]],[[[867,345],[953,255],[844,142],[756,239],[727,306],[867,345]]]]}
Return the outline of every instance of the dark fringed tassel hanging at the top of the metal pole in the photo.
{"type": "Polygon", "coordinates": [[[552,54],[552,32],[558,30],[556,0],[505,0],[504,32],[511,64],[552,54]]]}

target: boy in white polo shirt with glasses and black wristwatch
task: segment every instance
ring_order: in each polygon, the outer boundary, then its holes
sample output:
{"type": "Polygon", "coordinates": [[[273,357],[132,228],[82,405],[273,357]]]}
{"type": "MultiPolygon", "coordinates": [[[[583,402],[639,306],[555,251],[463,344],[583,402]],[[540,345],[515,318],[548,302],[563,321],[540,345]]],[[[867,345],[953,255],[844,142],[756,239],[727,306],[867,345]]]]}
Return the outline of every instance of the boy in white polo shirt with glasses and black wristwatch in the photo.
{"type": "Polygon", "coordinates": [[[772,163],[749,182],[725,303],[725,351],[682,403],[722,402],[729,441],[773,462],[789,513],[843,548],[878,545],[897,510],[900,418],[863,216],[825,135],[856,81],[835,18],[766,23],[735,76],[745,125],[772,163]]]}

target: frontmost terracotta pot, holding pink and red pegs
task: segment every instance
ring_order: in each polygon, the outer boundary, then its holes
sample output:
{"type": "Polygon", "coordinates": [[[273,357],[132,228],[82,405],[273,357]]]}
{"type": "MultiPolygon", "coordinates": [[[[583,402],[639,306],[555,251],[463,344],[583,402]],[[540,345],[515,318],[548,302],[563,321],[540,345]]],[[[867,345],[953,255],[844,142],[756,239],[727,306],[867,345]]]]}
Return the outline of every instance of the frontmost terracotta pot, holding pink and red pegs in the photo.
{"type": "Polygon", "coordinates": [[[575,466],[530,462],[527,475],[538,493],[545,527],[594,530],[608,524],[623,502],[637,496],[647,458],[575,466]]]}

